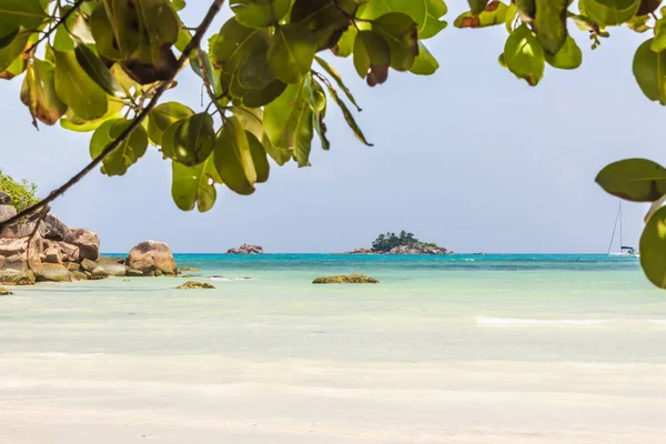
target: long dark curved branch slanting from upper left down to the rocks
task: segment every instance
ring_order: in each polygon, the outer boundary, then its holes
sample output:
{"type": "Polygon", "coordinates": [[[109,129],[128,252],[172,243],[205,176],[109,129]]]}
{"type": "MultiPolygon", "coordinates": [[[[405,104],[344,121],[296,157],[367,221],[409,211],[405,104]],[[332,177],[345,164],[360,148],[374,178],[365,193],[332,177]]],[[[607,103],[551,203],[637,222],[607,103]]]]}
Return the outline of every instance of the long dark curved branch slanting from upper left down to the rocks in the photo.
{"type": "Polygon", "coordinates": [[[19,220],[21,220],[21,218],[30,215],[30,214],[34,213],[36,211],[42,209],[44,205],[53,202],[56,199],[58,199],[60,195],[62,195],[65,191],[68,191],[70,188],[72,188],[74,184],[77,184],[81,179],[83,179],[89,172],[91,172],[97,165],[99,165],[104,159],[107,159],[109,157],[109,154],[111,154],[127,138],[130,137],[132,131],[137,127],[139,127],[141,124],[141,122],[143,122],[143,120],[148,117],[148,113],[158,104],[160,97],[171,85],[175,75],[183,69],[183,67],[188,62],[192,51],[194,51],[196,48],[199,48],[199,44],[201,43],[201,39],[203,38],[203,34],[205,34],[209,27],[213,22],[213,19],[215,18],[215,16],[218,16],[218,12],[220,12],[220,9],[222,9],[223,3],[224,3],[224,0],[214,0],[213,1],[213,4],[211,4],[205,17],[203,18],[203,20],[196,28],[196,32],[194,33],[194,37],[192,37],[192,40],[190,41],[190,43],[188,43],[188,46],[183,50],[180,59],[178,59],[178,65],[176,65],[176,69],[174,71],[173,75],[171,77],[171,79],[164,80],[160,83],[160,85],[155,89],[155,93],[152,97],[151,101],[148,103],[148,105],[145,105],[143,111],[141,111],[141,113],[139,115],[137,115],[134,118],[134,120],[132,120],[132,122],[128,125],[128,128],[122,133],[120,133],[120,135],[113,142],[111,142],[107,148],[104,148],[104,150],[100,153],[100,155],[94,158],[89,164],[87,164],[81,171],[79,171],[77,174],[74,174],[65,183],[63,183],[56,190],[51,191],[51,193],[49,193],[49,195],[47,198],[39,201],[34,205],[27,208],[26,210],[21,211],[13,218],[10,218],[4,222],[0,222],[0,230],[7,225],[18,222],[19,220]]]}

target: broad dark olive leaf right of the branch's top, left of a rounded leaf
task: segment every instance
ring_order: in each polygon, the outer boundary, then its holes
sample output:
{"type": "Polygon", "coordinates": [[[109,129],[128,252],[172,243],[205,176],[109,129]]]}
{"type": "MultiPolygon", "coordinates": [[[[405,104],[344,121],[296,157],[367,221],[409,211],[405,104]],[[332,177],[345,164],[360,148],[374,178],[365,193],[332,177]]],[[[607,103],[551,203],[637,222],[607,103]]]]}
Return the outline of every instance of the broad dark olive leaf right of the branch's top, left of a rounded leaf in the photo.
{"type": "Polygon", "coordinates": [[[220,29],[212,47],[212,61],[218,68],[234,73],[252,53],[268,48],[268,30],[248,28],[230,19],[220,29]]]}

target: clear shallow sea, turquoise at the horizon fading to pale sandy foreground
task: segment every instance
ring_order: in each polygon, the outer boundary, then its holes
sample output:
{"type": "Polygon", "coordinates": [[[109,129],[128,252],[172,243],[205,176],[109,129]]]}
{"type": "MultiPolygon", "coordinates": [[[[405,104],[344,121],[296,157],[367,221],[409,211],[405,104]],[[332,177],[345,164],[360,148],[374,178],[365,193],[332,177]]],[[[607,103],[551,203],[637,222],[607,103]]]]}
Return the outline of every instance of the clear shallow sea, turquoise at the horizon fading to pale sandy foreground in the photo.
{"type": "Polygon", "coordinates": [[[635,259],[176,260],[216,289],[0,299],[0,443],[666,442],[666,294],[635,259]],[[310,283],[350,272],[382,283],[310,283]]]}

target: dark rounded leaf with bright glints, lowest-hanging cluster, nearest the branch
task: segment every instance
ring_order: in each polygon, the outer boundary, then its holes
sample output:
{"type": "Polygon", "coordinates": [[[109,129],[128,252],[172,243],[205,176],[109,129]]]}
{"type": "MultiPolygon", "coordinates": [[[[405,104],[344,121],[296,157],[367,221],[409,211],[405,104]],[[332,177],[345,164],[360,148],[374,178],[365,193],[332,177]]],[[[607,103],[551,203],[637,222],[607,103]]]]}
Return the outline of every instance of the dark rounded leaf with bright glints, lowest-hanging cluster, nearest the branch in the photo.
{"type": "Polygon", "coordinates": [[[162,145],[171,151],[173,160],[183,165],[194,167],[209,158],[215,145],[215,129],[213,118],[208,112],[179,120],[172,124],[175,130],[169,129],[162,135],[162,145]],[[167,140],[167,138],[173,138],[167,140]]]}

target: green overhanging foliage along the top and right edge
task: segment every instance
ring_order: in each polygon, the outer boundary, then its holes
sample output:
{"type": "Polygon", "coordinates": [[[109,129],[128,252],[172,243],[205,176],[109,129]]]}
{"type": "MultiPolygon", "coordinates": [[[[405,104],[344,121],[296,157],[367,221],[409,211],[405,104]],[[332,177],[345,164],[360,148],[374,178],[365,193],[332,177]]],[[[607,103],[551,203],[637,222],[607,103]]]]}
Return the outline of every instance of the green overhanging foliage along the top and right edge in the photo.
{"type": "MultiPolygon", "coordinates": [[[[202,48],[201,34],[222,0],[208,3],[201,26],[189,28],[180,16],[183,0],[0,0],[0,78],[22,77],[20,100],[36,127],[59,123],[92,132],[91,165],[102,162],[107,175],[123,175],[155,147],[172,163],[175,204],[204,212],[214,205],[219,185],[253,193],[269,179],[269,159],[309,167],[315,134],[329,150],[330,104],[371,145],[354,119],[360,111],[354,97],[323,51],[351,58],[370,87],[386,82],[392,70],[428,75],[438,63],[424,41],[447,24],[443,0],[230,0],[232,17],[202,48]],[[173,79],[184,64],[209,95],[201,110],[158,103],[164,90],[176,88],[173,79]]],[[[468,6],[454,26],[504,27],[508,37],[500,64],[533,87],[547,67],[582,64],[575,29],[588,36],[593,49],[612,27],[648,34],[632,69],[645,97],[666,105],[660,0],[468,0],[468,6]]],[[[629,159],[606,167],[596,181],[622,199],[652,202],[642,263],[650,281],[666,287],[664,169],[629,159]]]]}

